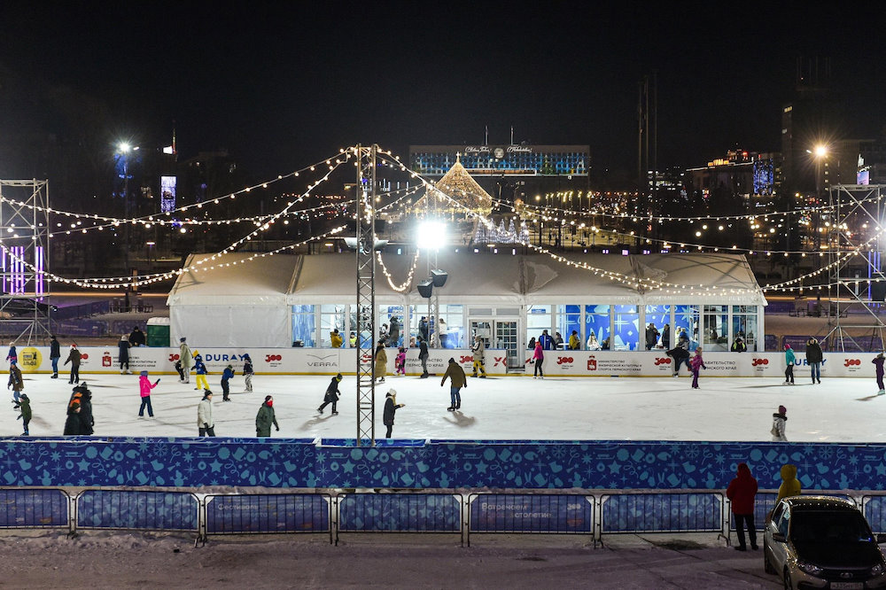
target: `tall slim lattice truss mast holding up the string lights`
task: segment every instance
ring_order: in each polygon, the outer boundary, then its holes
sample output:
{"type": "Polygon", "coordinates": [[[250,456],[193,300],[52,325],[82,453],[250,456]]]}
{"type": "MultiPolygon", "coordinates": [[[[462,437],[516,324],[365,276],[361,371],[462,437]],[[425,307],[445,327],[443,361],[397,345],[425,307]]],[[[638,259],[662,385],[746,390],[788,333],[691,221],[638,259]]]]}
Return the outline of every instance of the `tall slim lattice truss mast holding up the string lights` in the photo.
{"type": "Polygon", "coordinates": [[[354,148],[357,167],[357,446],[376,445],[376,154],[354,148]]]}

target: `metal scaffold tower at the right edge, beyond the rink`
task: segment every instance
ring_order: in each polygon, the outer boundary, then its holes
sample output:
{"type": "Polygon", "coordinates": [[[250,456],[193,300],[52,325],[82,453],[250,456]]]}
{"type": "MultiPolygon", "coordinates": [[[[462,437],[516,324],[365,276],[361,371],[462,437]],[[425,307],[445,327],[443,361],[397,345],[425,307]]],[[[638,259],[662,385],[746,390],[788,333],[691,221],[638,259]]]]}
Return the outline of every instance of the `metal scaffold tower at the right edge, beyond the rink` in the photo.
{"type": "Polygon", "coordinates": [[[879,232],[886,228],[886,203],[882,202],[886,184],[835,184],[828,189],[828,204],[833,211],[828,231],[828,348],[846,351],[865,351],[859,345],[860,337],[854,338],[846,331],[870,330],[871,347],[879,339],[875,349],[882,350],[886,341],[886,323],[879,315],[882,310],[886,275],[883,274],[881,254],[886,244],[879,232]],[[867,223],[878,232],[873,241],[859,243],[858,226],[867,223]],[[864,262],[867,272],[859,276],[859,262],[864,262]],[[852,265],[853,268],[850,268],[852,265]],[[863,285],[863,286],[862,286],[863,285]],[[861,317],[867,322],[841,322],[843,314],[851,307],[861,307],[861,317]],[[833,338],[833,339],[832,339],[833,338]]]}

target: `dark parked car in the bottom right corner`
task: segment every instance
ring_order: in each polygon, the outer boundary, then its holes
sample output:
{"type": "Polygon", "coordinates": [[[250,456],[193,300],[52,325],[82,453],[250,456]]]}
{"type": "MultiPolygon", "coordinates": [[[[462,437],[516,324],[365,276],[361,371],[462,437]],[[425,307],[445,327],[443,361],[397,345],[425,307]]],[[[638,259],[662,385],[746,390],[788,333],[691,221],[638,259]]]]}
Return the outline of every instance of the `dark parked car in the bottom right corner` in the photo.
{"type": "Polygon", "coordinates": [[[763,532],[766,573],[785,588],[866,590],[886,588],[886,561],[851,501],[832,496],[794,496],[775,507],[763,532]]]}

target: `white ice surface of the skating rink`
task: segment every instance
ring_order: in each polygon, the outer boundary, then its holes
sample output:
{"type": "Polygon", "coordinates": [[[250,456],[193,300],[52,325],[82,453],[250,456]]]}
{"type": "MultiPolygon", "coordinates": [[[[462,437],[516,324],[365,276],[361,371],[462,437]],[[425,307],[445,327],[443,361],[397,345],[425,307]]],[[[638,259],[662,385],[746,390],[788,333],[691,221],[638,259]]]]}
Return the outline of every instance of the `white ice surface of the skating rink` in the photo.
{"type": "MultiPolygon", "coordinates": [[[[25,392],[34,417],[31,436],[59,436],[72,385],[28,375],[25,392]]],[[[83,375],[93,393],[96,436],[197,436],[201,392],[177,376],[161,376],[152,394],[154,417],[139,418],[137,375],[83,375]]],[[[155,378],[156,376],[152,377],[155,378]]],[[[329,376],[263,376],[245,393],[243,378],[231,382],[231,401],[221,401],[218,375],[210,376],[218,436],[254,436],[255,415],[265,395],[274,396],[280,431],[276,438],[354,438],[357,432],[355,377],[340,384],[336,416],[320,415],[329,376]]],[[[770,439],[772,415],[788,408],[791,441],[886,442],[886,396],[877,397],[873,379],[825,378],[821,384],[798,379],[794,386],[764,377],[702,377],[701,389],[688,377],[532,377],[470,378],[462,390],[462,409],[447,412],[449,384],[439,377],[387,377],[376,389],[376,432],[385,392],[394,388],[398,403],[395,438],[416,439],[770,439]]],[[[10,393],[9,400],[12,400],[10,393]]],[[[12,404],[0,410],[0,435],[19,435],[21,422],[12,404]]]]}

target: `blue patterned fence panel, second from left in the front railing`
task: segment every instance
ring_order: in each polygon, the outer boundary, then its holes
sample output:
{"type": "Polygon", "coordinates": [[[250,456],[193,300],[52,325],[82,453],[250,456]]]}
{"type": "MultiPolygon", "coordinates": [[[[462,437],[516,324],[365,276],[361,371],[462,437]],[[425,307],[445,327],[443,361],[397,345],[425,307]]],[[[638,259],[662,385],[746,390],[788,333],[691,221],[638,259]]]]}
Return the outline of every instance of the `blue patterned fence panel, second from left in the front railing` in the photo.
{"type": "Polygon", "coordinates": [[[197,531],[198,508],[197,498],[190,493],[87,490],[77,498],[77,526],[197,531]]]}

